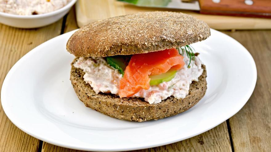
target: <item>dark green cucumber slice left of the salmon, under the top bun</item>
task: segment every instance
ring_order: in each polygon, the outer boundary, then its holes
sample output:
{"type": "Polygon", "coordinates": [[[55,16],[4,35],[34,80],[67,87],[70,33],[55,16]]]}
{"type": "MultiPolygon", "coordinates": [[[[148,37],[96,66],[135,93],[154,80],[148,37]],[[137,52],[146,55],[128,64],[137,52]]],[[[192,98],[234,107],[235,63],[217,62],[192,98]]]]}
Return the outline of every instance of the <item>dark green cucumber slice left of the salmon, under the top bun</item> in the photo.
{"type": "Polygon", "coordinates": [[[107,63],[119,70],[119,72],[122,74],[122,76],[124,75],[124,70],[126,68],[126,64],[125,64],[125,60],[123,59],[123,57],[119,57],[119,56],[113,56],[113,57],[106,57],[107,63]]]}

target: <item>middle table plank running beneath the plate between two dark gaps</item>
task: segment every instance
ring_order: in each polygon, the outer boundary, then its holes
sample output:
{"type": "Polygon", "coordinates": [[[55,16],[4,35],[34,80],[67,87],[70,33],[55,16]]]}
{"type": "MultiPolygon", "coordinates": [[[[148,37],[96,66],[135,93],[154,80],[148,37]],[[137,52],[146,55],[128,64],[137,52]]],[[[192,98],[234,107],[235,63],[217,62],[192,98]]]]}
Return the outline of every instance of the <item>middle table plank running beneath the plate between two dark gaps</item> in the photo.
{"type": "MultiPolygon", "coordinates": [[[[76,29],[75,15],[71,10],[67,16],[65,32],[76,29]]],[[[55,146],[43,142],[42,152],[83,152],[80,150],[71,150],[60,146],[55,146]]],[[[160,146],[144,150],[135,150],[136,152],[147,151],[231,151],[229,133],[226,122],[198,136],[184,141],[176,142],[166,146],[160,146]]]]}

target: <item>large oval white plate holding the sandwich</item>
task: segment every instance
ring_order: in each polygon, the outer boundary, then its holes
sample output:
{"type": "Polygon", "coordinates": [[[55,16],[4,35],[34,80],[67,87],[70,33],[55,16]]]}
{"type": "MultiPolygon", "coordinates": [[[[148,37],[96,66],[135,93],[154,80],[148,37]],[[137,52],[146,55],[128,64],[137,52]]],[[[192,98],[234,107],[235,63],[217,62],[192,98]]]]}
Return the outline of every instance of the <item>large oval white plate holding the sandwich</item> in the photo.
{"type": "Polygon", "coordinates": [[[257,78],[249,52],[233,38],[211,30],[192,46],[207,68],[206,95],[179,115],[129,122],[84,106],[69,80],[73,55],[55,37],[22,57],[4,80],[1,100],[8,118],[22,131],[54,145],[91,151],[136,150],[184,140],[208,131],[236,114],[252,94],[257,78]]]}

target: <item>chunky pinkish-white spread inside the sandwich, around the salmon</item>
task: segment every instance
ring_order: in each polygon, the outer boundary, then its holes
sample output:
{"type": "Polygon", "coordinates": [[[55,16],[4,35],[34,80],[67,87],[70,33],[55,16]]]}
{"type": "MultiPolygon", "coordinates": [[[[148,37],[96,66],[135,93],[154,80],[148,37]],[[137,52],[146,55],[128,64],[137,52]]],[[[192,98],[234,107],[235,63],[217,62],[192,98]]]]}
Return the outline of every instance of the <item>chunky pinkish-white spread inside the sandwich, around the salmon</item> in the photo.
{"type": "MultiPolygon", "coordinates": [[[[188,95],[190,84],[192,81],[198,81],[203,69],[201,68],[202,62],[196,56],[194,62],[191,61],[189,68],[189,58],[186,54],[184,54],[184,62],[184,67],[177,71],[172,80],[153,85],[148,90],[141,89],[132,97],[144,98],[150,104],[160,103],[170,96],[177,99],[185,98],[188,95]]],[[[73,65],[85,72],[83,76],[85,82],[89,83],[97,94],[99,92],[118,94],[122,75],[107,64],[103,57],[80,57],[73,65]]]]}

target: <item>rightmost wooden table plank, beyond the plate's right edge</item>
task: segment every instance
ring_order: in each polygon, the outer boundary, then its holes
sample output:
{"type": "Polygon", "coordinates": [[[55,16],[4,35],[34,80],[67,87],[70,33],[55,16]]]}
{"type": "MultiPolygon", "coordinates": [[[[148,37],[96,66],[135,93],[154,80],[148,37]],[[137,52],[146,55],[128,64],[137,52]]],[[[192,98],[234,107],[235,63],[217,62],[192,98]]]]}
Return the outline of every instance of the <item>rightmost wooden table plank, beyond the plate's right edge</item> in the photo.
{"type": "Polygon", "coordinates": [[[229,119],[235,151],[271,151],[271,30],[224,32],[245,46],[257,66],[249,101],[229,119]]]}

